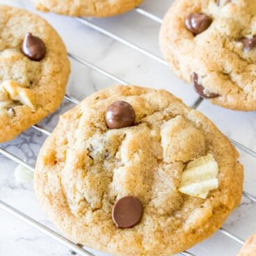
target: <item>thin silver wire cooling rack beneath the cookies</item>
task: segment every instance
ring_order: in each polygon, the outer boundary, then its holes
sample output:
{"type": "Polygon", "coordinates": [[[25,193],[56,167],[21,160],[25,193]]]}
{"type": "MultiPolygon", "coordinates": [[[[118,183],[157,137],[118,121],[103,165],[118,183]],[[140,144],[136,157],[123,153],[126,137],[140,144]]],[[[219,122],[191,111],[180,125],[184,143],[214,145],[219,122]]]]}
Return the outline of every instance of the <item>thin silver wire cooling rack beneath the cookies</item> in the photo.
{"type": "MultiPolygon", "coordinates": [[[[143,10],[143,8],[136,8],[135,11],[139,15],[143,15],[143,17],[145,17],[145,19],[151,19],[153,22],[157,22],[157,23],[161,24],[163,21],[160,17],[157,17],[156,15],[149,13],[146,10],[143,10]]],[[[104,29],[102,26],[99,26],[99,25],[93,23],[89,19],[86,19],[86,18],[76,18],[76,19],[79,22],[81,22],[81,24],[83,24],[84,26],[87,26],[90,29],[94,29],[95,31],[98,31],[99,33],[102,33],[102,34],[106,35],[107,37],[112,38],[113,40],[116,40],[116,41],[122,43],[123,45],[126,45],[127,47],[130,47],[131,49],[134,49],[134,51],[138,51],[141,54],[144,54],[145,56],[152,58],[152,60],[161,63],[162,65],[168,65],[166,63],[166,61],[163,60],[163,58],[160,58],[159,56],[152,54],[150,51],[143,49],[143,47],[140,47],[140,46],[134,44],[133,42],[125,40],[124,38],[121,38],[120,36],[115,35],[114,33],[111,33],[110,31],[104,29]]],[[[99,72],[100,74],[104,75],[105,77],[108,77],[109,79],[112,79],[115,82],[118,82],[122,85],[129,84],[127,81],[124,81],[124,80],[116,77],[115,75],[110,74],[109,72],[106,72],[105,70],[102,70],[101,68],[97,67],[93,63],[90,63],[90,62],[86,61],[85,59],[80,58],[79,56],[76,56],[71,53],[68,53],[68,56],[73,61],[77,61],[78,63],[85,65],[86,67],[90,68],[91,70],[95,70],[96,72],[99,72]]],[[[70,95],[67,95],[67,94],[65,95],[65,99],[67,99],[69,102],[72,102],[73,104],[79,103],[78,99],[76,99],[70,95]]],[[[203,99],[198,97],[198,99],[191,106],[191,108],[197,109],[198,106],[200,106],[200,104],[202,103],[202,101],[203,101],[203,99]]],[[[42,134],[45,134],[46,136],[49,136],[51,134],[50,131],[48,131],[44,127],[41,127],[40,125],[33,125],[33,129],[40,131],[42,134]]],[[[252,157],[256,157],[256,152],[254,150],[251,150],[250,148],[248,148],[244,145],[241,145],[241,143],[234,141],[232,138],[230,138],[230,141],[239,150],[242,150],[244,153],[249,154],[252,157]]],[[[29,170],[34,171],[34,167],[31,166],[31,164],[26,163],[26,161],[15,156],[15,154],[12,154],[12,153],[8,152],[7,150],[3,149],[3,147],[1,147],[1,146],[0,146],[0,154],[2,154],[3,156],[7,157],[8,159],[10,159],[12,161],[15,161],[16,163],[19,163],[20,165],[24,166],[25,168],[28,168],[29,170]]],[[[251,202],[256,203],[256,197],[254,195],[251,195],[250,193],[247,193],[246,191],[243,191],[243,197],[247,198],[251,202]]],[[[19,220],[24,221],[24,223],[31,225],[36,230],[39,230],[43,234],[46,234],[47,236],[49,236],[51,239],[58,241],[59,243],[63,244],[64,246],[66,246],[67,248],[72,250],[72,252],[77,253],[78,255],[82,255],[82,256],[94,256],[93,253],[88,252],[88,250],[83,248],[83,246],[66,239],[61,234],[56,233],[54,230],[51,230],[49,227],[43,225],[42,223],[39,223],[38,221],[35,221],[35,219],[31,218],[30,216],[27,216],[22,211],[19,211],[15,207],[8,205],[6,202],[3,202],[3,200],[0,200],[0,209],[15,216],[19,220]]],[[[230,239],[233,239],[237,243],[240,243],[241,245],[244,244],[243,239],[238,237],[236,234],[232,234],[232,232],[225,230],[223,227],[221,227],[218,231],[221,232],[222,234],[225,234],[230,239]]],[[[179,254],[185,255],[185,256],[200,256],[200,255],[194,255],[193,253],[189,253],[188,251],[184,251],[179,254]]]]}

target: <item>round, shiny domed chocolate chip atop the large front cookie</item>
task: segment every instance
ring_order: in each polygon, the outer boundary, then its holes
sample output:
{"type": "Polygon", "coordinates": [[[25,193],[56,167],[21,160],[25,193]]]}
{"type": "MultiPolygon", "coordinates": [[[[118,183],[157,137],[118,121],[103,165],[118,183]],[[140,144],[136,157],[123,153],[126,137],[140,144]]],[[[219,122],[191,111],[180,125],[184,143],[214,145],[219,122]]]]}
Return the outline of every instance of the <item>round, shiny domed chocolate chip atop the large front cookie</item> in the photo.
{"type": "Polygon", "coordinates": [[[109,129],[129,127],[135,123],[134,108],[127,102],[114,102],[106,110],[105,120],[109,129]]]}

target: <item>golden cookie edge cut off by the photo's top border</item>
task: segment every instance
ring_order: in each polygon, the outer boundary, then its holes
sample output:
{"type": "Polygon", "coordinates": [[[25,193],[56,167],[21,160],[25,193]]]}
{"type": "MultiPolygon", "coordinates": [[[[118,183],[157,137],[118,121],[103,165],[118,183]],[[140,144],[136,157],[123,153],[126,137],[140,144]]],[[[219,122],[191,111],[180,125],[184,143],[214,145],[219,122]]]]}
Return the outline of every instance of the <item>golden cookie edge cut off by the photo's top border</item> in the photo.
{"type": "Polygon", "coordinates": [[[111,17],[120,15],[136,6],[143,0],[33,0],[35,7],[42,11],[70,16],[111,17]]]}

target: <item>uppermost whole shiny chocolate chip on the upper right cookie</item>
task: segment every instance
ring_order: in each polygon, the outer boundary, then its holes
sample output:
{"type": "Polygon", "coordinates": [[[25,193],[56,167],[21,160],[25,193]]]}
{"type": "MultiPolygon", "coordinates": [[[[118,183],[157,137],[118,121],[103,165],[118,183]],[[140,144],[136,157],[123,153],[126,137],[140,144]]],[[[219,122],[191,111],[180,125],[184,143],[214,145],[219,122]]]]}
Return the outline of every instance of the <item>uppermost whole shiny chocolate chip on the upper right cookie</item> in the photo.
{"type": "Polygon", "coordinates": [[[198,35],[208,29],[212,19],[204,13],[192,13],[186,17],[186,28],[195,35],[198,35]]]}

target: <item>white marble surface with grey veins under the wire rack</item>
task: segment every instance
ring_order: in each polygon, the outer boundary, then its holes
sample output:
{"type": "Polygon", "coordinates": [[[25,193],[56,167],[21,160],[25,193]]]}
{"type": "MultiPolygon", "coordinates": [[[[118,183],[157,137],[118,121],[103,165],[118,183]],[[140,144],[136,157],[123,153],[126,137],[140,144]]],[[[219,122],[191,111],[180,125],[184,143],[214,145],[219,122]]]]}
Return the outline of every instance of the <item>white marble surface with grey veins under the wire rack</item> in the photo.
{"type": "MultiPolygon", "coordinates": [[[[172,2],[172,0],[145,0],[142,7],[159,17],[163,17],[172,2]]],[[[0,0],[0,3],[22,6],[34,11],[32,4],[28,0],[0,0]]],[[[39,15],[45,17],[61,34],[70,53],[77,54],[90,63],[130,83],[170,90],[173,94],[184,99],[186,104],[192,104],[197,98],[193,89],[177,79],[173,74],[170,74],[168,67],[165,65],[152,61],[150,58],[143,56],[143,54],[108,38],[106,35],[88,29],[76,19],[49,13],[39,13],[39,15]]],[[[158,47],[159,24],[139,15],[135,11],[111,19],[93,19],[93,22],[120,35],[122,38],[136,43],[136,45],[140,45],[153,54],[161,56],[158,47]]],[[[72,61],[72,75],[67,91],[70,95],[83,99],[83,97],[90,95],[95,90],[113,83],[111,79],[104,77],[102,74],[98,74],[76,61],[72,61]]],[[[43,120],[41,125],[49,130],[54,129],[58,115],[72,106],[72,104],[64,100],[56,114],[43,120]]],[[[208,102],[203,102],[199,109],[213,120],[224,134],[256,150],[255,113],[228,111],[211,106],[208,102]]],[[[1,147],[34,165],[40,145],[42,145],[45,138],[45,135],[35,131],[35,129],[29,129],[14,141],[5,143],[1,147]]],[[[244,189],[256,195],[256,159],[241,152],[241,163],[245,166],[246,179],[244,189]]],[[[0,156],[0,200],[8,202],[8,204],[24,211],[24,213],[36,220],[54,228],[47,221],[47,217],[35,200],[33,185],[17,183],[14,175],[16,166],[17,164],[0,156]]],[[[239,235],[239,237],[246,239],[250,234],[256,232],[255,216],[256,205],[243,199],[239,209],[234,211],[224,224],[224,227],[239,235]]],[[[211,239],[191,248],[190,251],[198,256],[232,256],[236,255],[239,248],[240,246],[237,242],[217,232],[211,239]]],[[[70,253],[65,246],[61,246],[44,234],[35,231],[29,225],[0,211],[0,255],[66,256],[70,255],[70,253]]],[[[100,254],[96,253],[96,255],[100,254]]]]}

